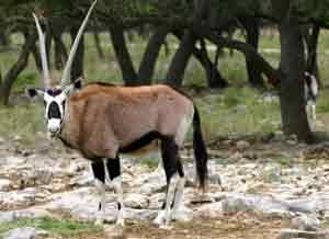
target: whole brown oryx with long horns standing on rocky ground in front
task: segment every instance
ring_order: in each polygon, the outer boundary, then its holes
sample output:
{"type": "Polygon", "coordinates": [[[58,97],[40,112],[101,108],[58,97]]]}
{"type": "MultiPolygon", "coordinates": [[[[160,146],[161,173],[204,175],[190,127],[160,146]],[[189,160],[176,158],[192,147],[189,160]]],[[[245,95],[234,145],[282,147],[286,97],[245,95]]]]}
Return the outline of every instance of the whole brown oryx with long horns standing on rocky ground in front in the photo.
{"type": "Polygon", "coordinates": [[[201,189],[207,179],[207,153],[201,132],[198,112],[192,100],[168,86],[116,87],[80,81],[68,84],[72,59],[95,2],[90,8],[77,34],[59,87],[50,87],[45,50],[45,36],[34,15],[39,37],[44,89],[29,89],[31,98],[41,96],[50,137],[60,138],[91,160],[95,185],[101,193],[100,218],[104,215],[104,185],[111,182],[117,194],[117,224],[123,225],[123,192],[120,155],[134,152],[154,140],[160,141],[161,158],[167,178],[167,195],[156,223],[168,226],[179,208],[184,172],[179,148],[193,123],[193,145],[201,189]]]}

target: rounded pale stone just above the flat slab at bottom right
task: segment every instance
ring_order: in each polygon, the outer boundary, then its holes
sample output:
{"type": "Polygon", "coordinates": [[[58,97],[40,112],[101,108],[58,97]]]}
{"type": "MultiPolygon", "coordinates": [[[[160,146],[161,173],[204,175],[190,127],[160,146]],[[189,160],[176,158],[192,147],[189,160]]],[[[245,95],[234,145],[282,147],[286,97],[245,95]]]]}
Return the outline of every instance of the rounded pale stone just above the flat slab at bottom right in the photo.
{"type": "Polygon", "coordinates": [[[302,214],[292,219],[292,226],[298,230],[316,231],[320,229],[321,221],[314,215],[302,214]]]}

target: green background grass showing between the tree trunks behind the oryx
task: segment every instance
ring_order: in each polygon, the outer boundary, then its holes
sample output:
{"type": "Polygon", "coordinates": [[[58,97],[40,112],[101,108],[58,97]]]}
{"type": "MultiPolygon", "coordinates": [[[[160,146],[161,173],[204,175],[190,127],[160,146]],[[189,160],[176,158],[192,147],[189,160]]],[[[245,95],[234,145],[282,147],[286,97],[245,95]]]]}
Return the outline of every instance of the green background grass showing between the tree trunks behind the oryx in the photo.
{"type": "MultiPolygon", "coordinates": [[[[86,59],[84,72],[86,81],[107,81],[121,83],[121,71],[115,59],[113,48],[110,44],[107,34],[101,34],[102,46],[105,54],[105,59],[101,60],[97,54],[93,37],[86,37],[86,59]]],[[[241,38],[241,36],[237,36],[241,38]]],[[[12,36],[13,47],[10,49],[0,48],[0,57],[5,59],[1,61],[1,71],[5,72],[14,62],[19,47],[22,44],[20,35],[12,36]]],[[[67,45],[70,44],[68,36],[65,36],[67,45]]],[[[326,49],[329,47],[329,34],[327,31],[321,31],[319,45],[319,64],[320,75],[326,83],[329,77],[328,56],[326,49]]],[[[164,49],[161,49],[160,57],[157,62],[155,79],[163,79],[170,60],[178,47],[178,42],[173,37],[169,38],[171,50],[169,56],[164,55],[164,49]]],[[[137,68],[146,47],[146,42],[138,38],[128,45],[134,65],[137,68]]],[[[260,48],[279,49],[277,34],[270,36],[262,34],[260,48]]],[[[279,53],[260,50],[263,57],[271,61],[273,66],[277,66],[280,60],[279,53]]],[[[213,57],[215,47],[211,47],[209,54],[213,57]]],[[[54,57],[50,57],[54,59],[54,57]]],[[[247,82],[247,72],[245,66],[245,57],[238,52],[234,52],[232,56],[226,52],[226,56],[219,59],[218,68],[224,78],[228,79],[232,86],[226,90],[213,90],[206,93],[194,93],[193,98],[196,101],[201,111],[205,138],[211,140],[218,136],[229,135],[251,135],[251,134],[268,134],[277,132],[281,127],[280,105],[277,102],[263,102],[260,91],[250,89],[247,82]]],[[[52,70],[53,79],[59,79],[60,72],[52,70]]],[[[22,93],[26,86],[39,86],[39,72],[35,68],[34,60],[31,58],[29,67],[24,70],[13,86],[13,94],[22,93]]],[[[186,89],[191,87],[205,87],[205,72],[200,64],[191,58],[185,71],[184,86],[186,89]]],[[[329,103],[322,92],[319,99],[318,112],[328,113],[329,103]]],[[[33,143],[36,137],[36,132],[44,130],[42,104],[13,106],[9,109],[0,107],[0,137],[20,136],[24,141],[33,143]]],[[[190,136],[191,137],[191,136],[190,136]]],[[[146,164],[149,164],[146,162],[146,164]]],[[[150,163],[151,164],[151,163],[150,163]]]]}

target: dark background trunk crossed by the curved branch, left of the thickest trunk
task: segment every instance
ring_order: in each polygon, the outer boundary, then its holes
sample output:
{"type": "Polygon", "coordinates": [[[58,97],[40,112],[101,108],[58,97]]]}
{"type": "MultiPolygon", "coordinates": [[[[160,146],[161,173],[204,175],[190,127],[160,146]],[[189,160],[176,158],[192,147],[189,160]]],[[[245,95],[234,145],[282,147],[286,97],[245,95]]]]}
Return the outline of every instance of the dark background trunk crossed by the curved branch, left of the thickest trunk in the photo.
{"type": "MultiPolygon", "coordinates": [[[[254,18],[243,18],[241,23],[247,32],[247,43],[254,47],[258,50],[259,43],[259,20],[254,18]]],[[[253,58],[246,57],[248,80],[252,87],[263,88],[264,81],[260,68],[253,58]]]]}

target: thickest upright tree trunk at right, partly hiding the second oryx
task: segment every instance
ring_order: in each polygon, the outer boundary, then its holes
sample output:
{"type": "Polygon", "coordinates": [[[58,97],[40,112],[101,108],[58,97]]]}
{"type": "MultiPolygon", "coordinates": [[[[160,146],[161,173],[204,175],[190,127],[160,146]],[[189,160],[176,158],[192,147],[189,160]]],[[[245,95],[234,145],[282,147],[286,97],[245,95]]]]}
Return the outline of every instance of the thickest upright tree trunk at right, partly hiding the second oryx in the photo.
{"type": "MultiPolygon", "coordinates": [[[[274,0],[272,0],[272,3],[274,0]]],[[[286,4],[286,0],[280,1],[286,4]]],[[[279,4],[280,4],[279,3],[279,4]]],[[[275,4],[275,3],[274,3],[275,4]]],[[[283,5],[276,5],[279,8],[283,5]]],[[[280,104],[283,132],[285,135],[296,135],[298,140],[313,141],[304,100],[304,69],[305,55],[298,19],[288,12],[290,4],[284,9],[279,25],[281,42],[280,68],[283,72],[283,80],[280,86],[280,104]]]]}

